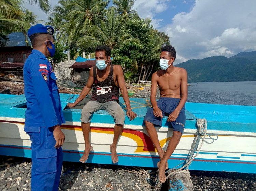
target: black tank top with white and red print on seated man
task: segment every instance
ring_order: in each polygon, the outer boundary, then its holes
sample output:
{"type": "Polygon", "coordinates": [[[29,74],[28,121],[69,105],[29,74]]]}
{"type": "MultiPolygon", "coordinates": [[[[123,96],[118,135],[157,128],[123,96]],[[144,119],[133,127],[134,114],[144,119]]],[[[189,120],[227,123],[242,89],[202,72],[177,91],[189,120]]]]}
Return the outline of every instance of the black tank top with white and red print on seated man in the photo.
{"type": "Polygon", "coordinates": [[[96,74],[96,66],[93,67],[93,92],[91,100],[99,103],[116,100],[119,103],[119,87],[114,82],[114,65],[110,65],[108,77],[102,82],[98,81],[96,74]]]}

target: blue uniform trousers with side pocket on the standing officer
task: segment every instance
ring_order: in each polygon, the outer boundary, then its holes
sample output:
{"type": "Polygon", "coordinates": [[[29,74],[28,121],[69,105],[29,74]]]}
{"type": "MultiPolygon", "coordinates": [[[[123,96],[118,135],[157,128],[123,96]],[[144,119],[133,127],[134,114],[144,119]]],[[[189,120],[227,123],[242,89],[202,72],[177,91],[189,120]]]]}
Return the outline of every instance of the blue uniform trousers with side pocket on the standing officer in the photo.
{"type": "Polygon", "coordinates": [[[62,170],[62,149],[55,149],[53,128],[27,132],[32,149],[31,191],[57,191],[62,170]]]}

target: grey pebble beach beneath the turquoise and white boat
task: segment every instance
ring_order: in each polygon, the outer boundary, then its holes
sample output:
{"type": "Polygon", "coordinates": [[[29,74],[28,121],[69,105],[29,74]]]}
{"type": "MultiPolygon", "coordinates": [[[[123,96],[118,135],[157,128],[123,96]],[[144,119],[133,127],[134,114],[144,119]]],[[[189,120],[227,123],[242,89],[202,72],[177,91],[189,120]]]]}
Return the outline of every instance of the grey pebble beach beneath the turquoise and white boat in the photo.
{"type": "MultiPolygon", "coordinates": [[[[31,159],[1,155],[0,158],[0,191],[30,190],[31,159]]],[[[137,173],[127,172],[128,169],[134,170],[132,167],[63,162],[59,190],[150,190],[140,184],[137,173]]],[[[256,190],[256,174],[191,170],[190,176],[196,191],[256,190]]],[[[167,182],[160,190],[168,190],[167,182]]]]}

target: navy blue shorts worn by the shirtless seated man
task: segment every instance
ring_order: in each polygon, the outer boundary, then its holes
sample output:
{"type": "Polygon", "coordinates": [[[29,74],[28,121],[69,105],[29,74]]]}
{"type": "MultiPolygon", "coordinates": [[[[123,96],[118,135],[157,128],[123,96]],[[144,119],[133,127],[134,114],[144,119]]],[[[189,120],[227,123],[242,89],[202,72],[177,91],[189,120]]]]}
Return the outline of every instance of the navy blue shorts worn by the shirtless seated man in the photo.
{"type": "MultiPolygon", "coordinates": [[[[171,112],[173,112],[174,109],[178,106],[180,100],[181,100],[180,98],[161,97],[157,101],[157,106],[159,107],[159,109],[162,110],[163,116],[169,116],[171,112]]],[[[161,127],[163,118],[156,117],[153,114],[153,107],[151,107],[150,109],[148,109],[147,114],[144,117],[144,121],[148,121],[150,123],[153,123],[155,126],[161,127]]],[[[169,127],[173,127],[173,131],[179,131],[183,134],[185,123],[186,123],[186,115],[185,115],[185,105],[184,105],[177,119],[172,122],[166,122],[166,125],[169,127]]]]}

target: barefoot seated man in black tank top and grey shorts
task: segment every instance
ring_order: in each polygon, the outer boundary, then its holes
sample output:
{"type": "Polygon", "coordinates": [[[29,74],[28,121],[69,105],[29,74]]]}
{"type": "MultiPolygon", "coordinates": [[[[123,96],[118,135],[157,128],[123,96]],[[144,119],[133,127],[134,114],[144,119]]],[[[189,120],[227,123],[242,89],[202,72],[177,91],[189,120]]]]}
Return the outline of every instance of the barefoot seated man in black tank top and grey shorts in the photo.
{"type": "Polygon", "coordinates": [[[123,70],[120,65],[110,65],[111,49],[108,46],[98,46],[95,49],[96,66],[90,70],[90,76],[86,86],[74,103],[68,107],[76,106],[93,89],[91,100],[86,103],[81,112],[82,131],[85,141],[85,150],[80,162],[86,162],[93,147],[90,143],[90,117],[98,110],[106,110],[115,119],[114,138],[110,145],[111,159],[113,163],[118,162],[116,146],[122,132],[125,116],[119,105],[119,88],[123,95],[127,108],[126,115],[130,120],[136,118],[136,113],[131,110],[128,92],[125,86],[123,70]]]}

